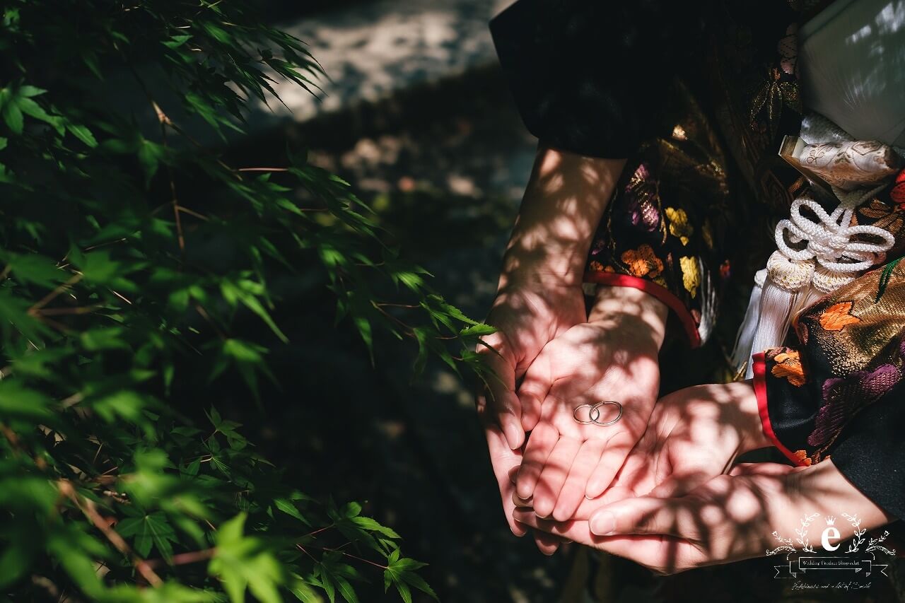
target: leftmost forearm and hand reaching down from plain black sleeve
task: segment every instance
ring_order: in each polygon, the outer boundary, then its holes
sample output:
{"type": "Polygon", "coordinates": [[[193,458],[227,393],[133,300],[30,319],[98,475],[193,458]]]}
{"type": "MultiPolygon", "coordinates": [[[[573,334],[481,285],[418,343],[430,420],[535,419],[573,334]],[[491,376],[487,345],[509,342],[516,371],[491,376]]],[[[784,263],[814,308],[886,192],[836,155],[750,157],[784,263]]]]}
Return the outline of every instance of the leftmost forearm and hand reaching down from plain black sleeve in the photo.
{"type": "MultiPolygon", "coordinates": [[[[514,458],[520,459],[520,452],[512,451],[524,444],[525,431],[539,416],[530,401],[522,404],[516,381],[548,341],[587,320],[581,287],[588,249],[623,166],[622,159],[538,148],[487,319],[498,331],[478,348],[493,373],[478,396],[478,409],[504,509],[511,504],[511,483],[500,476],[510,474],[514,458]]],[[[508,510],[506,517],[514,533],[524,533],[508,510]]]]}

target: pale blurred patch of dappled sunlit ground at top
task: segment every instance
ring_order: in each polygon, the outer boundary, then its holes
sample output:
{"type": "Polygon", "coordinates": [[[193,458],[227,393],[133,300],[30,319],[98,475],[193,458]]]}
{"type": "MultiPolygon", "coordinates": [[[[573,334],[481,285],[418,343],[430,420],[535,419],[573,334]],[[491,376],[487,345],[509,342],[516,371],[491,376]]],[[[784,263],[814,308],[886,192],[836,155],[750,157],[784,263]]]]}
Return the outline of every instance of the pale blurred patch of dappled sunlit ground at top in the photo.
{"type": "Polygon", "coordinates": [[[462,0],[382,0],[354,11],[322,14],[285,31],[309,44],[329,79],[317,81],[319,100],[297,87],[274,84],[285,106],[260,104],[255,119],[305,121],[395,91],[491,65],[487,22],[506,3],[462,0]]]}

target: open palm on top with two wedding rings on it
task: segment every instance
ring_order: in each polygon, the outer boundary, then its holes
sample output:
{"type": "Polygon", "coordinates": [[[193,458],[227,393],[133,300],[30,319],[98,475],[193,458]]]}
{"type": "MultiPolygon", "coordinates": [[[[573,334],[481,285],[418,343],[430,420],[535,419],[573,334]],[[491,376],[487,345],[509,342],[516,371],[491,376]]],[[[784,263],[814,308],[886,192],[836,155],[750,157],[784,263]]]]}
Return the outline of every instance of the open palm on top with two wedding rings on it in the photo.
{"type": "MultiPolygon", "coordinates": [[[[647,293],[603,287],[588,322],[550,341],[529,367],[519,399],[531,412],[539,408],[540,416],[525,447],[516,493],[538,515],[571,518],[586,496],[610,485],[643,436],[660,385],[657,355],[666,314],[647,293]],[[576,407],[603,400],[622,405],[617,422],[576,421],[576,407]]],[[[600,407],[598,421],[617,412],[600,407]]]]}

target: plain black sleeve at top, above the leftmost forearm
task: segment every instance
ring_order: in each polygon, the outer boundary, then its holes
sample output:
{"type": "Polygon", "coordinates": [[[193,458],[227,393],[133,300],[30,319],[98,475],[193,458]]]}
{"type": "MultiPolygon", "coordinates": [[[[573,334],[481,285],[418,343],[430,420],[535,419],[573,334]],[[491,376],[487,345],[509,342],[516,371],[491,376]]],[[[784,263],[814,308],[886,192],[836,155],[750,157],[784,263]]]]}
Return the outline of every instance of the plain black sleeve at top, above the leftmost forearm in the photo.
{"type": "Polygon", "coordinates": [[[705,4],[511,5],[491,21],[491,34],[526,127],[551,147],[598,158],[628,157],[641,141],[664,134],[654,118],[660,92],[700,59],[705,4]]]}

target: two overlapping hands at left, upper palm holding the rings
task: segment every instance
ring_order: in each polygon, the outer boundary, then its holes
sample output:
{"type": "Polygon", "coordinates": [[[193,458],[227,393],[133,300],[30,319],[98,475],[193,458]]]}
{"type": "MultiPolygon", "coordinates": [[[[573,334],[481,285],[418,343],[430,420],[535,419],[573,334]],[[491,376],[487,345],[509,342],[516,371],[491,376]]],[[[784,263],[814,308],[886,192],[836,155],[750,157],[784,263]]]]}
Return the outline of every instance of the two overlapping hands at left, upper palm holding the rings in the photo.
{"type": "MultiPolygon", "coordinates": [[[[516,500],[564,521],[610,485],[656,401],[665,317],[661,302],[633,289],[601,288],[590,316],[580,285],[500,291],[488,318],[498,332],[480,349],[498,378],[488,379],[478,412],[513,533],[527,531],[512,517],[516,500]],[[624,405],[619,422],[575,421],[577,405],[605,399],[624,405]]],[[[560,541],[535,538],[547,554],[560,541]]]]}

